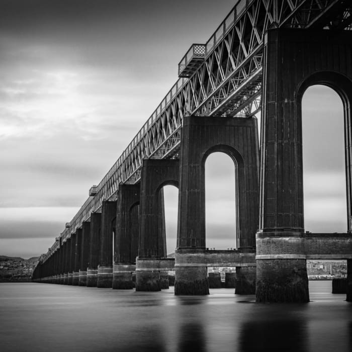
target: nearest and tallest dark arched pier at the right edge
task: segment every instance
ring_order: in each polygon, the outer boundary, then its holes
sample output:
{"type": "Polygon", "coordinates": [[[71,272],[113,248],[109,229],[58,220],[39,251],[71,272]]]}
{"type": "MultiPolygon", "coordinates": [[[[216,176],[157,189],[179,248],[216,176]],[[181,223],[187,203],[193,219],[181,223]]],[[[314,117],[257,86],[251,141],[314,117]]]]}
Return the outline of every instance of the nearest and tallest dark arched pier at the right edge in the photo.
{"type": "Polygon", "coordinates": [[[265,36],[257,302],[309,301],[301,102],[305,90],[313,84],[332,87],[343,103],[347,219],[351,231],[351,52],[352,36],[348,32],[273,29],[265,36]]]}

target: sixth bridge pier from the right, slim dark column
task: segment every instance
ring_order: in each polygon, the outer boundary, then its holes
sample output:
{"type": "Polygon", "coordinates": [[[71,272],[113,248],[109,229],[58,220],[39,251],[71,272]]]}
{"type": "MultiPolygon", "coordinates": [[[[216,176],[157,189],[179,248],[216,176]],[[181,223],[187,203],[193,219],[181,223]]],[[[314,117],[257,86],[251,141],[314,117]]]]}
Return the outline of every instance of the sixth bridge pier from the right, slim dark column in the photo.
{"type": "Polygon", "coordinates": [[[97,287],[101,224],[102,213],[92,213],[90,226],[90,250],[86,280],[88,287],[97,287]]]}

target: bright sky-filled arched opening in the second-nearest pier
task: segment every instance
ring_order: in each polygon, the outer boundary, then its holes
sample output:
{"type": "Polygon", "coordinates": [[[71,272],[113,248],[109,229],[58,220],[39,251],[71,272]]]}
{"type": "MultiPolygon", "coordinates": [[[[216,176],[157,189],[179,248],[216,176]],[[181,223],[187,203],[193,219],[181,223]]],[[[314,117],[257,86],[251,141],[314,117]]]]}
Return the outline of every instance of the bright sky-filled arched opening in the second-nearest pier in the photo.
{"type": "Polygon", "coordinates": [[[223,152],[211,153],[205,162],[205,233],[209,249],[235,249],[236,166],[223,152]]]}

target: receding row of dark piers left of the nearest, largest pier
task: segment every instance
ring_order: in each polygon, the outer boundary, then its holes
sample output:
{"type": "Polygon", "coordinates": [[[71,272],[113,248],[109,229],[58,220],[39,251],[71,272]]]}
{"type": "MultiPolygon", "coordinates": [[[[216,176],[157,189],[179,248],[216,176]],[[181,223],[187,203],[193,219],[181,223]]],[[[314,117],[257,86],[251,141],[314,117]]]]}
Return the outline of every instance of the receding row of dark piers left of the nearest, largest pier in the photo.
{"type": "Polygon", "coordinates": [[[191,160],[184,164],[183,170],[179,158],[144,159],[140,184],[121,184],[116,201],[103,201],[100,211],[93,212],[89,221],[83,221],[70,237],[57,238],[57,250],[38,265],[33,280],[158,291],[169,287],[168,272],[175,271],[176,294],[208,294],[208,267],[236,267],[236,292],[254,294],[253,234],[258,212],[256,119],[192,116],[185,119],[185,133],[189,134],[183,139],[189,144],[189,154],[183,155],[191,160]],[[216,129],[217,137],[202,139],[202,135],[216,129]],[[244,135],[249,138],[244,140],[244,135]],[[239,146],[235,149],[231,145],[234,136],[241,139],[241,154],[246,157],[246,162],[238,167],[239,198],[247,204],[237,214],[240,245],[234,250],[209,250],[205,248],[204,164],[213,150],[226,151],[234,161],[238,160],[239,146]],[[183,174],[187,177],[182,178],[183,174]],[[183,235],[179,232],[175,258],[167,258],[166,253],[162,191],[165,185],[180,190],[179,227],[183,235]]]}

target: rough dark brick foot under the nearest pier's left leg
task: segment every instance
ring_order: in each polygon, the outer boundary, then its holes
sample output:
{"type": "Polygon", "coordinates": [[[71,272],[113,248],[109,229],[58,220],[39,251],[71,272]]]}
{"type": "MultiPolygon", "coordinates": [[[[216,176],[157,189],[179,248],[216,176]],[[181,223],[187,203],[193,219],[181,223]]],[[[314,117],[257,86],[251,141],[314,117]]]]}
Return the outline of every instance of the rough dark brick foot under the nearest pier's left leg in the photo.
{"type": "Polygon", "coordinates": [[[306,259],[257,259],[256,263],[256,302],[309,302],[306,259]]]}

